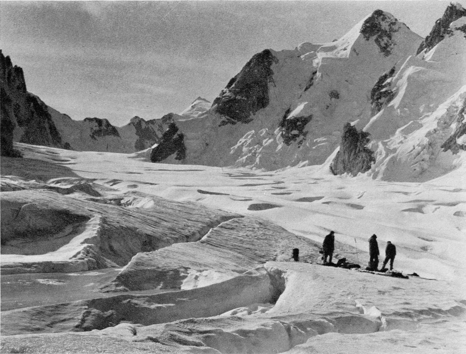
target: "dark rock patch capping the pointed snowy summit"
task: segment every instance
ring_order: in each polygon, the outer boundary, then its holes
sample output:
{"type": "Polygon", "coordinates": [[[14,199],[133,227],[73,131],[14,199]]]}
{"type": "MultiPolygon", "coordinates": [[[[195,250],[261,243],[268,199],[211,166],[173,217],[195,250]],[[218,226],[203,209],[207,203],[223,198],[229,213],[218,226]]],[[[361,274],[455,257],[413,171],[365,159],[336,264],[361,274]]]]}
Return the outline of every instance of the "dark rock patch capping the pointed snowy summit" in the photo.
{"type": "Polygon", "coordinates": [[[391,54],[391,48],[394,46],[392,33],[396,32],[395,25],[397,20],[391,20],[382,10],[374,11],[363,23],[360,33],[366,41],[375,36],[374,41],[380,48],[380,52],[385,56],[391,54]],[[382,26],[382,22],[387,22],[388,29],[382,26]]]}

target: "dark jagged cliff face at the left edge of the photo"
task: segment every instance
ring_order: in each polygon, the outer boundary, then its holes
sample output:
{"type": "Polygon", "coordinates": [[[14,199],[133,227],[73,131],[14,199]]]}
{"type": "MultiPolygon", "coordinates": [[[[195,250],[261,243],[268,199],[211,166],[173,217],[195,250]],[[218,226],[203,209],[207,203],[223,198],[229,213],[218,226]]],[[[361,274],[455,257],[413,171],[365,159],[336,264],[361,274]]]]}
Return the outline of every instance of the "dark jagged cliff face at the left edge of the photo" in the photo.
{"type": "Polygon", "coordinates": [[[61,147],[62,139],[47,105],[26,89],[23,70],[0,51],[1,153],[14,154],[12,142],[61,147]],[[4,145],[5,144],[5,145],[4,145]]]}

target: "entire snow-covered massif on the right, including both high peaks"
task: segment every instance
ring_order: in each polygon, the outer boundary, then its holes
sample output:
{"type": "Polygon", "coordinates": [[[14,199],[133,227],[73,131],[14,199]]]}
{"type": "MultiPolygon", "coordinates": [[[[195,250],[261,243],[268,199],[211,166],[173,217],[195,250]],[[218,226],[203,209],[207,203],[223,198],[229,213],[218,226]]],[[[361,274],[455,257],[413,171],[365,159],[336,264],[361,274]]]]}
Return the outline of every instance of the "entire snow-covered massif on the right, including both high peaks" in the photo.
{"type": "Polygon", "coordinates": [[[331,156],[337,174],[438,177],[464,146],[465,27],[457,3],[425,40],[377,10],[338,41],[264,50],[211,109],[173,125],[152,161],[276,170],[331,156]]]}

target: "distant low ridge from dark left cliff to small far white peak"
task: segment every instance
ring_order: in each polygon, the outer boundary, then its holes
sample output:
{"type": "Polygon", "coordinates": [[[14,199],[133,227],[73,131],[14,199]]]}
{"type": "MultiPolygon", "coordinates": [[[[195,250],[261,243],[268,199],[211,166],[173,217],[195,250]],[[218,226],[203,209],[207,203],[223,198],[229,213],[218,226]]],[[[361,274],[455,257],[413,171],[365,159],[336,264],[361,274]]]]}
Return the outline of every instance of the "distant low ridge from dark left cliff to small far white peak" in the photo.
{"type": "Polygon", "coordinates": [[[13,66],[1,51],[0,58],[2,155],[14,154],[14,141],[70,150],[134,153],[158,143],[171,123],[197,117],[210,108],[210,102],[198,97],[179,115],[170,113],[147,121],[136,116],[123,127],[95,117],[76,121],[27,92],[23,70],[13,66]]]}

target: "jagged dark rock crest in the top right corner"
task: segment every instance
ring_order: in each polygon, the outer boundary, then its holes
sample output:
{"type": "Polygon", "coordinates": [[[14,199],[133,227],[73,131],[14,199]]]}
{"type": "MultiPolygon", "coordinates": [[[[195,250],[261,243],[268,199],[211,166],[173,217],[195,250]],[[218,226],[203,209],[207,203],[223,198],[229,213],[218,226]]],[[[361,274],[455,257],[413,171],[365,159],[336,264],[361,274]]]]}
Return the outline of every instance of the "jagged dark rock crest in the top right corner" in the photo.
{"type": "Polygon", "coordinates": [[[445,36],[452,34],[450,25],[452,22],[459,20],[461,17],[466,16],[466,10],[459,3],[450,3],[446,8],[442,18],[435,22],[431,33],[425,38],[418,48],[417,54],[423,50],[428,52],[434,48],[445,36]]]}

